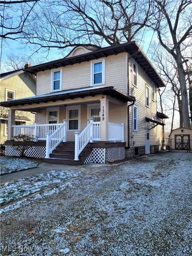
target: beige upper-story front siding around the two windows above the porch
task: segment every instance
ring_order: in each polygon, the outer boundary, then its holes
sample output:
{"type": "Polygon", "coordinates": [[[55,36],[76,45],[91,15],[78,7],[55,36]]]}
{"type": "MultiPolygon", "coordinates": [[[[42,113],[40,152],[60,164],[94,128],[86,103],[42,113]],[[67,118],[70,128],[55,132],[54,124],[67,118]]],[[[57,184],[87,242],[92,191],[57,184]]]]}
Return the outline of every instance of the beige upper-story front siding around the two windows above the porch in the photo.
{"type": "MultiPolygon", "coordinates": [[[[127,92],[126,53],[105,58],[105,85],[127,92]]],[[[38,72],[37,95],[51,92],[51,70],[38,72]]],[[[62,67],[62,90],[89,87],[91,84],[91,61],[62,67]]],[[[103,86],[105,86],[103,85],[103,86]]]]}

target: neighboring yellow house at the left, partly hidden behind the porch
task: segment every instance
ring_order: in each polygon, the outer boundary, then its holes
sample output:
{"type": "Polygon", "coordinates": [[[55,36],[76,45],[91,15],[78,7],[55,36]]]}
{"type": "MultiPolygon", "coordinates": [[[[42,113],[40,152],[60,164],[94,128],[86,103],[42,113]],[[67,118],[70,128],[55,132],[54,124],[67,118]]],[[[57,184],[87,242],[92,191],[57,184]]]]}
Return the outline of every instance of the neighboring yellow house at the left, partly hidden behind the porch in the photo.
{"type": "MultiPolygon", "coordinates": [[[[25,67],[30,66],[26,64],[25,67]]],[[[36,95],[36,77],[23,69],[14,70],[0,74],[0,99],[10,101],[36,95]]],[[[7,140],[8,131],[8,110],[7,107],[0,107],[0,142],[7,140]]],[[[34,124],[36,114],[29,111],[16,111],[14,125],[34,124]]]]}

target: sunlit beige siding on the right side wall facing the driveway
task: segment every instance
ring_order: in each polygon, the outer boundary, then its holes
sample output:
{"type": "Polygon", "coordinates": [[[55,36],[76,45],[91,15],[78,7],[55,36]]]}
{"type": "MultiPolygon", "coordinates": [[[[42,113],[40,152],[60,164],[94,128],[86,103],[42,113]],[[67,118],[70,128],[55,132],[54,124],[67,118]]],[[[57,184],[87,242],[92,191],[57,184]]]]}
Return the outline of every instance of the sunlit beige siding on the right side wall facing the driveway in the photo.
{"type": "MultiPolygon", "coordinates": [[[[155,101],[152,100],[152,80],[138,67],[137,87],[132,85],[132,65],[130,62],[130,95],[136,97],[135,105],[138,107],[138,132],[133,131],[133,107],[130,107],[130,144],[145,146],[145,117],[152,119],[157,112],[157,92],[155,101]],[[149,107],[146,106],[146,84],[149,87],[149,107]]],[[[155,87],[156,88],[156,87],[155,87]]],[[[158,119],[157,121],[162,121],[158,119]]],[[[150,124],[150,123],[149,123],[150,124]]],[[[150,145],[159,145],[162,140],[162,126],[158,125],[150,130],[150,145]]]]}

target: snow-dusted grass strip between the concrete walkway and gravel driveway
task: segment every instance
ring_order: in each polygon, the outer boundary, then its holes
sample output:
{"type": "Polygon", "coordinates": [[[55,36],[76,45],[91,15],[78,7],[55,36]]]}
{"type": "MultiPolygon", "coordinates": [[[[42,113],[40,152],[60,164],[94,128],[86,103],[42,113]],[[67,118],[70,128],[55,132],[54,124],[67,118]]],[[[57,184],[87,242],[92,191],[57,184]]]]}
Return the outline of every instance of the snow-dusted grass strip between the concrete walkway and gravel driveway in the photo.
{"type": "Polygon", "coordinates": [[[80,174],[80,172],[76,171],[52,170],[17,181],[4,183],[1,186],[0,203],[5,204],[15,201],[49,186],[64,182],[67,179],[78,177],[80,174]]]}

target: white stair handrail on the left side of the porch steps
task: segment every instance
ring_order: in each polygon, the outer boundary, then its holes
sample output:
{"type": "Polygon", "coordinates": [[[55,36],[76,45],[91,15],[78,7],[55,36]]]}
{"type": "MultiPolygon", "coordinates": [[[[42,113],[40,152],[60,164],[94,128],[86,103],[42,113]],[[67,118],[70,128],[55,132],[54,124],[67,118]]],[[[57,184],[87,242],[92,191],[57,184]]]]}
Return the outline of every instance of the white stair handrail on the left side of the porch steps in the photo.
{"type": "Polygon", "coordinates": [[[67,125],[66,120],[63,120],[63,124],[53,133],[46,133],[46,158],[52,151],[63,141],[66,142],[67,125]]]}

